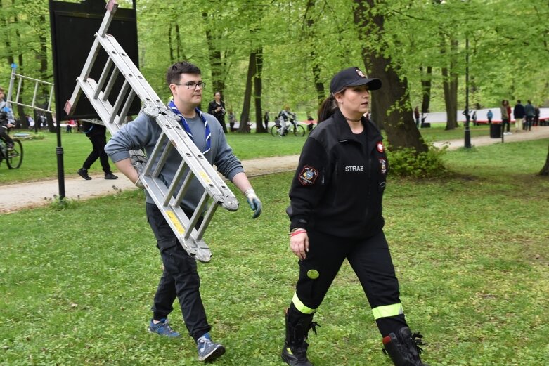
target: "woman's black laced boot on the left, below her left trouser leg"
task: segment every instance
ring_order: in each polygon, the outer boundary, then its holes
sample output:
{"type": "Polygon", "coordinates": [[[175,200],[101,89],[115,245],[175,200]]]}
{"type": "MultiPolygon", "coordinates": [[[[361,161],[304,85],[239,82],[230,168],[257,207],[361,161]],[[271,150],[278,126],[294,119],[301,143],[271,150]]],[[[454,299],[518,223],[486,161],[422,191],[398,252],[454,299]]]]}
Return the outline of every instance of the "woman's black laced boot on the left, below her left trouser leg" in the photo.
{"type": "MultiPolygon", "coordinates": [[[[290,366],[313,366],[307,360],[307,334],[312,328],[316,335],[316,326],[313,322],[313,315],[306,315],[306,318],[300,319],[295,325],[288,320],[286,313],[286,340],[282,349],[282,360],[290,366]]],[[[320,327],[320,325],[318,325],[320,327]]]]}

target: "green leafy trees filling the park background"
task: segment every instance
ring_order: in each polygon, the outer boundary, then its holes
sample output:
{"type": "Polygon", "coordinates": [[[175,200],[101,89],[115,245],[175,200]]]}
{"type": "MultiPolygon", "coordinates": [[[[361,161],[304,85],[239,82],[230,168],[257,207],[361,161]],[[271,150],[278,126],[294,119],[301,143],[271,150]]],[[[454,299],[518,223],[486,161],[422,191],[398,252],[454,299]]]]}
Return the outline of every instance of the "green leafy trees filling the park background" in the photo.
{"type": "MultiPolygon", "coordinates": [[[[140,69],[159,96],[169,97],[167,66],[190,60],[207,82],[203,104],[221,91],[240,122],[257,122],[266,111],[272,120],[285,105],[300,117],[315,116],[333,74],[350,66],[382,79],[372,115],[396,148],[427,149],[413,121],[416,105],[423,112],[446,110],[446,129],[456,128],[467,68],[470,107],[497,107],[502,99],[536,105],[549,100],[547,0],[137,0],[135,5],[140,69]]],[[[0,28],[5,61],[0,85],[6,89],[11,63],[20,74],[53,82],[48,1],[0,0],[0,28]]],[[[30,89],[22,98],[31,98],[30,89]]],[[[24,113],[20,108],[18,114],[24,113]]],[[[263,132],[260,125],[257,131],[263,132]]]]}

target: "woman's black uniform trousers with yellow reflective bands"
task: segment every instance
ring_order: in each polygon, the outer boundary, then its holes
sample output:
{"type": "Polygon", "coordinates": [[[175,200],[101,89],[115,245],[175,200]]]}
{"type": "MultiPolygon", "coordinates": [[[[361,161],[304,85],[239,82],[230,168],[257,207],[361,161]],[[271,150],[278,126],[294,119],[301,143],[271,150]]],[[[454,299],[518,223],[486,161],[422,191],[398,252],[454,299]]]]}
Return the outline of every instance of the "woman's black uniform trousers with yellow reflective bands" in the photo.
{"type": "MultiPolygon", "coordinates": [[[[359,277],[373,310],[400,305],[399,281],[396,279],[389,246],[382,230],[372,237],[354,240],[314,230],[308,230],[308,235],[309,252],[306,259],[299,261],[299,280],[290,306],[291,322],[297,322],[300,317],[305,318],[306,313],[316,311],[344,259],[349,261],[359,277]],[[303,313],[299,311],[299,307],[309,308],[309,311],[303,313]]],[[[399,334],[399,329],[407,326],[403,313],[382,316],[376,319],[376,323],[382,336],[391,332],[399,334]]]]}

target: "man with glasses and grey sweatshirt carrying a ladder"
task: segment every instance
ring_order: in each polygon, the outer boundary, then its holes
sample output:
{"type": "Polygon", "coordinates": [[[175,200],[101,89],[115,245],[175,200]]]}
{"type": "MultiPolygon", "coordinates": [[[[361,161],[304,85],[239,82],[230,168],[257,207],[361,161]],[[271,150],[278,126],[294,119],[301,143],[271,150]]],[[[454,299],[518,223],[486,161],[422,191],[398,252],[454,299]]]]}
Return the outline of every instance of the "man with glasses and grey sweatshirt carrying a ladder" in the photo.
{"type": "MultiPolygon", "coordinates": [[[[200,69],[188,62],[175,63],[168,68],[166,81],[174,97],[174,100],[168,105],[169,109],[179,117],[179,123],[198,150],[202,152],[207,162],[215,164],[218,171],[243,192],[250,207],[254,210],[253,217],[257,218],[261,214],[261,201],[248,181],[242,164],[227,144],[221,124],[212,115],[198,110],[205,87],[200,69]]],[[[131,163],[129,152],[144,149],[148,157],[154,156],[153,149],[161,134],[162,127],[155,122],[153,117],[142,112],[133,122],[125,124],[115,133],[105,147],[105,151],[122,174],[136,185],[142,186],[139,173],[131,163]]],[[[170,141],[166,140],[164,145],[167,143],[170,141]]],[[[165,164],[162,166],[159,176],[167,187],[172,184],[174,177],[179,173],[178,168],[181,166],[181,155],[174,150],[169,150],[167,157],[160,158],[165,159],[165,164]]],[[[192,217],[197,210],[203,192],[204,188],[196,177],[188,183],[188,188],[186,188],[181,201],[181,207],[188,217],[192,217]]],[[[214,360],[225,352],[225,348],[212,341],[209,336],[211,327],[207,322],[200,298],[200,278],[195,258],[183,249],[148,190],[146,195],[148,222],[155,233],[157,247],[164,264],[164,273],[160,278],[152,308],[153,319],[150,320],[148,330],[163,336],[179,336],[178,332],[169,327],[167,320],[169,313],[173,310],[172,304],[177,297],[188,332],[198,345],[198,360],[214,360]]],[[[202,217],[195,226],[200,226],[201,221],[202,217]]],[[[192,230],[192,228],[187,230],[192,230]]]]}

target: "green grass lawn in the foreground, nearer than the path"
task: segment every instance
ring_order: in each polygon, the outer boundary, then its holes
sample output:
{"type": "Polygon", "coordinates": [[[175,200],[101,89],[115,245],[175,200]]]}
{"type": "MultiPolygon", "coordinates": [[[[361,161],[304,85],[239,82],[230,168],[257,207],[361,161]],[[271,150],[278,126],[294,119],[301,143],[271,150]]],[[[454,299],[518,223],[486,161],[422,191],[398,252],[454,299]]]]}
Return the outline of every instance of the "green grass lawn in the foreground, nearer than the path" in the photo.
{"type": "MultiPolygon", "coordinates": [[[[549,181],[536,176],[546,154],[547,140],[491,145],[447,152],[448,178],[389,176],[385,233],[430,365],[549,365],[549,181]]],[[[205,235],[202,298],[227,348],[216,365],[282,365],[297,280],[291,177],[253,178],[264,213],[252,220],[238,194],[240,209],[219,209],[205,235]]],[[[0,227],[1,365],[198,365],[190,337],[146,332],[162,269],[142,192],[4,214],[0,227]]],[[[314,365],[392,365],[347,263],[316,321],[314,365]]]]}

